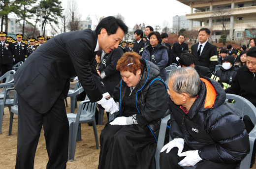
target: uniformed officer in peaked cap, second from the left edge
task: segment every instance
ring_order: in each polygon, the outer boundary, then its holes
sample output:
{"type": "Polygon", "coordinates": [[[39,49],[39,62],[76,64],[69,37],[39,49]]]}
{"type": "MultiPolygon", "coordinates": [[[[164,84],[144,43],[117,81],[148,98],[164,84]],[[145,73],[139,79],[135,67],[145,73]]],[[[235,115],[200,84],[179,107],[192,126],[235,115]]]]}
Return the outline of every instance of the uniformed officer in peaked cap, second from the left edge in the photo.
{"type": "Polygon", "coordinates": [[[26,43],[22,42],[23,34],[16,34],[16,40],[12,42],[14,46],[14,62],[13,65],[18,63],[19,61],[25,61],[25,58],[28,56],[28,46],[26,43]]]}

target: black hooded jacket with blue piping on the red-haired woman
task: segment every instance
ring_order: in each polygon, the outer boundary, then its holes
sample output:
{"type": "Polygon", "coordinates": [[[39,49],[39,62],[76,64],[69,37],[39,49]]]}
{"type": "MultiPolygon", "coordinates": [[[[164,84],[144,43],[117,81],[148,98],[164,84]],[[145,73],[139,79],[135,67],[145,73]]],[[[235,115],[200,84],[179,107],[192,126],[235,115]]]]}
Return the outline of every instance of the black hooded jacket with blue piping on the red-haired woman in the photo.
{"type": "MultiPolygon", "coordinates": [[[[136,119],[138,124],[144,128],[148,125],[153,132],[160,127],[160,119],[164,117],[167,110],[167,91],[164,82],[160,79],[160,70],[157,65],[141,59],[145,65],[144,72],[139,83],[134,88],[134,96],[131,94],[132,100],[136,102],[136,119]]],[[[130,112],[126,112],[123,107],[123,98],[129,92],[129,87],[123,80],[115,88],[114,99],[120,103],[120,115],[131,116],[130,112]],[[121,85],[121,88],[120,88],[121,85]],[[120,98],[121,95],[121,98],[120,98]]]]}

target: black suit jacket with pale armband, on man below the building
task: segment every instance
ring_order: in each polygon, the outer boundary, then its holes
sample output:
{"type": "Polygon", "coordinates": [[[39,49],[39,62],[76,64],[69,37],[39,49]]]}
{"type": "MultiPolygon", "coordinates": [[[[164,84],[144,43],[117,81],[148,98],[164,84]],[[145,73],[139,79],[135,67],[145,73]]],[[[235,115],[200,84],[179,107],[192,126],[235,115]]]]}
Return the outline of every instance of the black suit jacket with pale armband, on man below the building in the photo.
{"type": "Polygon", "coordinates": [[[203,48],[201,56],[197,54],[197,44],[192,45],[191,52],[195,58],[195,64],[199,66],[205,66],[210,69],[211,72],[214,71],[215,65],[218,64],[218,54],[217,47],[209,42],[207,42],[203,48]]]}

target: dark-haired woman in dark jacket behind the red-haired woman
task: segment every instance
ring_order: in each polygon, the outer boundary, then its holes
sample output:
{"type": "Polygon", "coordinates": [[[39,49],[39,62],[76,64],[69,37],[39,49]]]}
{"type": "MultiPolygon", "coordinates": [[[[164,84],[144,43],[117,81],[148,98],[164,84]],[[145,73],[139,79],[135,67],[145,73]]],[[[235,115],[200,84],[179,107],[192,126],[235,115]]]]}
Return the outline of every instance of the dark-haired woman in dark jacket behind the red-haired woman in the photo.
{"type": "Polygon", "coordinates": [[[155,63],[160,69],[160,77],[166,81],[165,66],[168,62],[168,48],[161,45],[161,35],[158,31],[149,33],[149,42],[150,45],[145,47],[141,58],[155,63]]]}

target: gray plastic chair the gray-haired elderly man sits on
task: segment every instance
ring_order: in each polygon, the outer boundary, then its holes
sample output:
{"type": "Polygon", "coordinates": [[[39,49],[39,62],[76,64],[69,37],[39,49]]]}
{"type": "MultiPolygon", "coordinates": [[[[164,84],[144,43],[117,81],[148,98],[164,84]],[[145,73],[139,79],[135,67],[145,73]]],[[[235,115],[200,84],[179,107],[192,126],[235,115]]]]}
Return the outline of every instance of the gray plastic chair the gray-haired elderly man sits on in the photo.
{"type": "MultiPolygon", "coordinates": [[[[235,95],[235,94],[226,94],[226,104],[238,115],[241,115],[242,118],[244,118],[245,115],[248,115],[250,119],[252,120],[255,127],[253,130],[249,133],[249,139],[250,139],[250,153],[246,155],[246,157],[241,161],[240,168],[238,169],[250,169],[250,163],[252,159],[252,153],[253,153],[253,147],[254,142],[256,140],[256,107],[247,99],[235,95]],[[228,103],[228,99],[234,100],[233,103],[228,103]]],[[[164,138],[165,138],[165,132],[166,132],[166,126],[167,121],[170,119],[170,115],[166,116],[162,119],[161,125],[160,125],[160,133],[158,138],[158,145],[157,145],[157,151],[156,151],[156,169],[160,169],[159,160],[160,160],[160,150],[163,147],[164,138]]],[[[171,126],[170,126],[171,127],[171,126]]],[[[171,141],[170,136],[170,141],[171,141]]],[[[184,169],[195,169],[194,166],[192,167],[184,167],[184,169]]]]}

